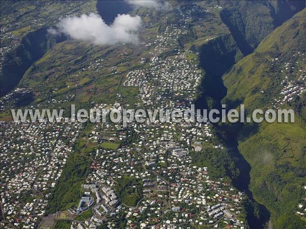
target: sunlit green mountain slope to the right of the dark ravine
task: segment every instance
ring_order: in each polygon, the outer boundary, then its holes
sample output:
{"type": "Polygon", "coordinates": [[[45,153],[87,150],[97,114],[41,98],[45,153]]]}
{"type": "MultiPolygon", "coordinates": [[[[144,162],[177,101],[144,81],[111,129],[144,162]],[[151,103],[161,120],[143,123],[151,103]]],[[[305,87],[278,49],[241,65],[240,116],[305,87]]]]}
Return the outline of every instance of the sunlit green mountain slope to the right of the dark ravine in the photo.
{"type": "Polygon", "coordinates": [[[223,76],[223,100],[230,107],[242,103],[247,114],[257,108],[295,110],[295,123],[245,124],[237,131],[238,148],[251,166],[250,190],[271,212],[273,228],[306,228],[295,214],[306,185],[305,94],[290,101],[279,94],[290,84],[304,84],[305,18],[306,10],[297,13],[223,76]]]}

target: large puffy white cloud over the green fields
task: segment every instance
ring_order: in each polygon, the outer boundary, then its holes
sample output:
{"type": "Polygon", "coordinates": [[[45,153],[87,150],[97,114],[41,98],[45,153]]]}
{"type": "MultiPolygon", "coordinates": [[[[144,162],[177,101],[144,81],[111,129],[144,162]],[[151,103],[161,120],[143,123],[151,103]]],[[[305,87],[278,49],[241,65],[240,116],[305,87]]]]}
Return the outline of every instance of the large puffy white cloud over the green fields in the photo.
{"type": "Polygon", "coordinates": [[[108,26],[103,19],[94,13],[80,17],[71,16],[60,20],[57,29],[50,29],[52,34],[62,33],[72,39],[88,41],[96,45],[116,43],[137,43],[141,28],[141,18],[129,14],[121,14],[108,26]]]}

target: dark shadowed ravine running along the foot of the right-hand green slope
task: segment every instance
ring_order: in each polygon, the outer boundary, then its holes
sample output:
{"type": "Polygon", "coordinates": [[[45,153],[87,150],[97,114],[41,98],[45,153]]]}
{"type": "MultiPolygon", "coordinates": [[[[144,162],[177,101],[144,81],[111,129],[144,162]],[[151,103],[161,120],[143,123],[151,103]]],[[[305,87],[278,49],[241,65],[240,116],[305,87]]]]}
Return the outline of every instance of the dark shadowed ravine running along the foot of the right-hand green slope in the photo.
{"type": "MultiPolygon", "coordinates": [[[[205,70],[206,74],[202,79],[201,96],[196,100],[195,106],[198,109],[220,109],[221,99],[226,95],[222,75],[243,57],[242,52],[233,36],[229,34],[202,45],[199,56],[200,66],[205,70]]],[[[248,196],[246,204],[248,224],[251,229],[264,228],[264,224],[269,220],[270,214],[265,206],[260,205],[253,199],[249,190],[251,167],[237,148],[236,135],[229,133],[228,129],[223,128],[223,126],[221,126],[221,130],[226,133],[226,136],[231,136],[231,138],[227,137],[223,140],[227,144],[226,146],[236,167],[240,170],[238,177],[232,177],[233,184],[248,196]]]]}

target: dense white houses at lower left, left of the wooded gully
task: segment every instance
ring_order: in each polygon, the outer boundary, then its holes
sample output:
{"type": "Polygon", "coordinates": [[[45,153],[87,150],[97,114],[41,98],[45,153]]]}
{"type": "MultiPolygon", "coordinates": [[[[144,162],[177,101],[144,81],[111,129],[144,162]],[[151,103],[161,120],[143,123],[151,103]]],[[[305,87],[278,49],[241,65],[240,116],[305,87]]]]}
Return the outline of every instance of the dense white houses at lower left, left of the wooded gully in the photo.
{"type": "Polygon", "coordinates": [[[81,123],[1,122],[1,204],[5,220],[36,228],[81,123]]]}

